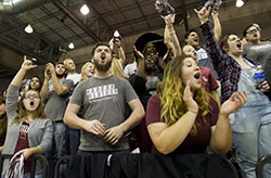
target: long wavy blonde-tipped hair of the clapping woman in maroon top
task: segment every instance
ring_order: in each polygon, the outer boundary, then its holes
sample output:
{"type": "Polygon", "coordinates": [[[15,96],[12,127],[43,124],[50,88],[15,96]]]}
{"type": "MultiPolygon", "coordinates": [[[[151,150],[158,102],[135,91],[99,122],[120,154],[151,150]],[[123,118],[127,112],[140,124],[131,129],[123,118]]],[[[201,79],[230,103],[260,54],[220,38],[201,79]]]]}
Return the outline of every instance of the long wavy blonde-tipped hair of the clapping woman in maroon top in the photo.
{"type": "MultiPolygon", "coordinates": [[[[173,125],[182,115],[188,112],[188,106],[183,101],[184,84],[182,81],[182,66],[183,60],[190,58],[188,55],[180,55],[171,60],[165,71],[164,79],[157,86],[157,94],[159,96],[162,103],[162,116],[167,125],[173,125]]],[[[209,100],[208,94],[204,88],[194,91],[194,100],[198,104],[199,110],[203,111],[203,117],[209,113],[209,100]]],[[[203,118],[204,119],[204,118],[203,118]]],[[[196,125],[194,124],[191,131],[191,136],[196,136],[196,125]]]]}

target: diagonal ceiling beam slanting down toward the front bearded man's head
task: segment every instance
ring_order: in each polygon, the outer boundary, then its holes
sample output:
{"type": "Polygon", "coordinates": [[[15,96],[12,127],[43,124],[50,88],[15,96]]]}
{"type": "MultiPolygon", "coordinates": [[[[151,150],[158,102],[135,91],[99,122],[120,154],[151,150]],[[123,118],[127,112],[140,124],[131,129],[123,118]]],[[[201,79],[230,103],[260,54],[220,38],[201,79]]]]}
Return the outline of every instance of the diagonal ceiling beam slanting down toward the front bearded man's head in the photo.
{"type": "Polygon", "coordinates": [[[85,30],[91,38],[94,39],[94,41],[99,42],[102,41],[93,31],[89,30],[89,28],[73,13],[69,8],[67,8],[64,3],[61,1],[54,1],[52,2],[55,7],[57,7],[60,10],[63,10],[74,23],[76,23],[82,30],[85,30]]]}

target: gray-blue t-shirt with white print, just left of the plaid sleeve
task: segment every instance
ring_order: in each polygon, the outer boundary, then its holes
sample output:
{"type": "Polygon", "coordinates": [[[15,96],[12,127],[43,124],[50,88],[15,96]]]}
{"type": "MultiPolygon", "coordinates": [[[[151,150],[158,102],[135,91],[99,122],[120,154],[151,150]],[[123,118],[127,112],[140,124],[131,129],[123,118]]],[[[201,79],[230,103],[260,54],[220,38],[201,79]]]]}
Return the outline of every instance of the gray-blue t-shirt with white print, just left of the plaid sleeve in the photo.
{"type": "Polygon", "coordinates": [[[207,50],[205,50],[205,47],[196,48],[196,54],[197,54],[198,65],[210,68],[210,71],[214,73],[216,79],[218,79],[218,74],[217,74],[216,69],[214,68],[211,59],[210,59],[207,50]]]}

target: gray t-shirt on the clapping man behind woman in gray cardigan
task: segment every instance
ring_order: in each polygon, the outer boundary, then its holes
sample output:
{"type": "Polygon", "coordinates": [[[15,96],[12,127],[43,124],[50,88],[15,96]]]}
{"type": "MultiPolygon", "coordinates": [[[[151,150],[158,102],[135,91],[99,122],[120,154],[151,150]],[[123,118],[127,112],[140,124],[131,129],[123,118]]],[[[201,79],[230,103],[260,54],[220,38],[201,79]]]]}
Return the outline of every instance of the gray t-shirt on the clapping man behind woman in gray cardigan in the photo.
{"type": "MultiPolygon", "coordinates": [[[[70,79],[64,79],[61,80],[61,86],[67,87],[70,89],[74,86],[74,81],[70,79]]],[[[59,96],[54,91],[54,87],[52,84],[52,79],[49,80],[49,87],[48,87],[48,101],[44,106],[44,114],[52,118],[53,120],[62,120],[63,115],[65,113],[66,106],[67,106],[67,97],[68,93],[65,96],[59,96]]]]}

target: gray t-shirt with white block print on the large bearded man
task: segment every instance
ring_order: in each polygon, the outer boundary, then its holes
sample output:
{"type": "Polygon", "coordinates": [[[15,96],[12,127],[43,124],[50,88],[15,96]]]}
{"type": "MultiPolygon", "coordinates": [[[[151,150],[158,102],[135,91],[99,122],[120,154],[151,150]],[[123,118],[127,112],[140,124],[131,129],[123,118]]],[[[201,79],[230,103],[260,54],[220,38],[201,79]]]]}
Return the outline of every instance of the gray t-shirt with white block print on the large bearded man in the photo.
{"type": "MultiPolygon", "coordinates": [[[[125,105],[137,98],[137,93],[126,79],[116,76],[90,77],[76,87],[70,103],[82,106],[82,118],[98,119],[104,123],[108,129],[125,122],[125,105]]],[[[111,145],[104,141],[103,136],[81,130],[79,150],[116,151],[127,149],[129,145],[125,137],[117,144],[111,145]]]]}

